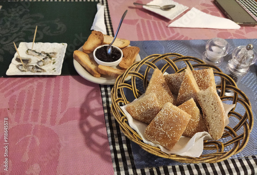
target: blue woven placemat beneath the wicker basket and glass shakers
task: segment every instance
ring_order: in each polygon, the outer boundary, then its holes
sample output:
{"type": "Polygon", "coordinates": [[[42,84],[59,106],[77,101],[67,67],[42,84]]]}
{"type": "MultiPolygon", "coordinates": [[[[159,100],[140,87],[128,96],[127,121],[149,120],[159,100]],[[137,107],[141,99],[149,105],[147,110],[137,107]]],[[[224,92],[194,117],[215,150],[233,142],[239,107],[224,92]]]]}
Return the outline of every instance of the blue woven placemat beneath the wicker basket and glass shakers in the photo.
{"type": "MultiPolygon", "coordinates": [[[[224,57],[224,61],[219,67],[222,71],[225,71],[228,60],[231,59],[231,54],[234,48],[238,46],[246,46],[251,43],[254,48],[257,48],[257,39],[226,39],[230,44],[230,51],[227,56],[224,57]]],[[[140,48],[139,55],[141,59],[152,54],[164,54],[164,53],[178,53],[185,56],[193,56],[201,58],[201,55],[205,52],[205,45],[208,40],[167,40],[167,41],[132,41],[131,46],[137,46],[140,48]]],[[[249,98],[252,105],[252,112],[254,120],[257,119],[257,63],[251,65],[249,72],[242,78],[241,82],[237,84],[238,88],[242,90],[249,98]]],[[[238,113],[244,114],[244,107],[237,109],[238,113]]],[[[230,119],[230,124],[236,123],[233,119],[230,119]]],[[[250,139],[246,147],[237,155],[231,158],[242,158],[247,156],[257,155],[257,125],[256,122],[253,125],[250,139]]],[[[170,159],[164,159],[150,154],[143,150],[140,146],[132,144],[132,152],[134,156],[135,166],[137,168],[167,166],[167,165],[182,165],[170,159]]],[[[206,154],[208,150],[204,150],[203,154],[206,154]]]]}

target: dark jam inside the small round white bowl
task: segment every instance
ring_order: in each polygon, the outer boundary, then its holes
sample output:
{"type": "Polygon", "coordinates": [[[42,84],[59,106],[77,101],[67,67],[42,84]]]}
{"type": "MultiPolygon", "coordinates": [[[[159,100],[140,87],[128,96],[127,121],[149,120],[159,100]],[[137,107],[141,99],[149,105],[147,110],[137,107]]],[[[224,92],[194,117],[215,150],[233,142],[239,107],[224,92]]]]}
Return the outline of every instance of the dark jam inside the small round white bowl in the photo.
{"type": "Polygon", "coordinates": [[[118,49],[112,46],[112,55],[107,55],[107,46],[103,46],[96,50],[96,57],[104,62],[114,62],[120,59],[121,53],[118,49]]]}

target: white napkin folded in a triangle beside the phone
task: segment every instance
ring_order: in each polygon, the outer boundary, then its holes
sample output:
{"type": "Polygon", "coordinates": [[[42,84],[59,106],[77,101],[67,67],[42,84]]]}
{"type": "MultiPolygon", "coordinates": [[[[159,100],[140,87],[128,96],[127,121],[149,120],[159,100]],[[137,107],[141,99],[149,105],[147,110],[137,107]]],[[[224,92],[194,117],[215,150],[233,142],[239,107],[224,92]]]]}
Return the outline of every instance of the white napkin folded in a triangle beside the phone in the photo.
{"type": "Polygon", "coordinates": [[[168,27],[240,29],[240,26],[230,19],[213,16],[194,7],[168,27]]]}

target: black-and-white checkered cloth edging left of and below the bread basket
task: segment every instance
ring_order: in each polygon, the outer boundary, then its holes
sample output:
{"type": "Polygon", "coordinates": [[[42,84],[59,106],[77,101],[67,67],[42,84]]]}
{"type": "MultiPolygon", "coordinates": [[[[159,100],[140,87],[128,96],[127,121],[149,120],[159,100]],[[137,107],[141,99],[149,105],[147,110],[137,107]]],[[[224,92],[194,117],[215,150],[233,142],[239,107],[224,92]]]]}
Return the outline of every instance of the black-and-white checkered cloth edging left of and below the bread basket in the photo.
{"type": "MultiPolygon", "coordinates": [[[[107,34],[114,36],[106,1],[103,0],[103,4],[106,5],[105,24],[107,34]]],[[[131,141],[121,132],[119,124],[111,113],[111,90],[113,86],[100,85],[100,88],[115,174],[257,174],[257,159],[255,156],[228,159],[213,164],[198,163],[137,169],[132,154],[131,141]]]]}

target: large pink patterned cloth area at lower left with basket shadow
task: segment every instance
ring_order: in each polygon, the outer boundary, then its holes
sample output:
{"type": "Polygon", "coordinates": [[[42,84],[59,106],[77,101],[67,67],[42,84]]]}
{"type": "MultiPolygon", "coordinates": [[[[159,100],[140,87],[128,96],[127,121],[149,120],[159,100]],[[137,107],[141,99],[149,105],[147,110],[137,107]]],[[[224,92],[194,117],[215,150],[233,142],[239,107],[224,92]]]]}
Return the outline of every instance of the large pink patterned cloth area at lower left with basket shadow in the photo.
{"type": "Polygon", "coordinates": [[[1,78],[0,115],[1,174],[114,174],[99,84],[1,78]]]}

